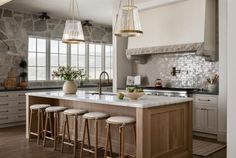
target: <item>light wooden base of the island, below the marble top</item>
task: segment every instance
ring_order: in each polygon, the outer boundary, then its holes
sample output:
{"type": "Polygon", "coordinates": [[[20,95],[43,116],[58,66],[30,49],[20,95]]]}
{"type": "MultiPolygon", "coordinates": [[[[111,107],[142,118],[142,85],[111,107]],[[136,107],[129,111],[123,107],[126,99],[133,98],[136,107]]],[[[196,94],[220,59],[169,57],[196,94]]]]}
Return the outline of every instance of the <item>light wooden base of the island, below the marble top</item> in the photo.
{"type": "MultiPolygon", "coordinates": [[[[47,103],[52,106],[65,106],[68,108],[81,108],[90,112],[101,111],[110,115],[127,115],[136,118],[137,131],[137,158],[191,158],[192,157],[192,101],[156,106],[151,108],[136,108],[117,105],[104,105],[65,99],[53,99],[46,97],[27,95],[27,120],[26,129],[29,125],[29,107],[33,104],[47,103]]],[[[34,119],[32,130],[36,130],[36,119],[34,119]]],[[[79,127],[82,127],[82,119],[79,127]]],[[[70,122],[70,128],[73,122],[70,122]]],[[[82,135],[79,129],[79,138],[82,135]]],[[[90,122],[90,134],[93,144],[94,126],[90,122]]],[[[71,130],[71,136],[73,135],[71,130]]],[[[26,130],[26,138],[29,138],[26,130]]],[[[99,124],[99,145],[105,145],[105,123],[99,124]]],[[[119,131],[117,127],[111,129],[113,151],[119,151],[119,131]]],[[[133,154],[134,135],[132,127],[125,130],[125,150],[133,154]]]]}

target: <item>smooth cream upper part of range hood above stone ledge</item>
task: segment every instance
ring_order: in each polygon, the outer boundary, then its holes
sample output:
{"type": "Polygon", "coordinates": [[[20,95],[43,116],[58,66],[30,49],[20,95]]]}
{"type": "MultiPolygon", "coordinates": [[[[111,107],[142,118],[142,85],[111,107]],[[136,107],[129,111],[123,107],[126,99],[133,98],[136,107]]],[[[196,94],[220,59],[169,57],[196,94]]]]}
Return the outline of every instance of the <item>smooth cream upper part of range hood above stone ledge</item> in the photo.
{"type": "Polygon", "coordinates": [[[140,11],[144,34],[129,38],[128,48],[204,41],[205,0],[188,0],[140,11]]]}

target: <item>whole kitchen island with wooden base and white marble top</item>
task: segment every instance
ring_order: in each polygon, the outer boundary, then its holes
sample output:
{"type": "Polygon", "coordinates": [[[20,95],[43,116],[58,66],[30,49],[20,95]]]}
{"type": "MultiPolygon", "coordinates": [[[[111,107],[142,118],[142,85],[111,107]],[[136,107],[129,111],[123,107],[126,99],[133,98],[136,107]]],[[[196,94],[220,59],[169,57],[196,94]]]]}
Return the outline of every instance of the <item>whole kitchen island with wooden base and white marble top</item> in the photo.
{"type": "MultiPolygon", "coordinates": [[[[61,91],[53,91],[27,93],[26,102],[26,129],[29,125],[29,107],[39,103],[80,108],[89,112],[106,112],[111,116],[133,116],[136,118],[137,145],[135,150],[132,128],[127,128],[127,153],[136,151],[137,158],[192,157],[191,98],[143,96],[139,100],[118,100],[116,95],[108,93],[98,95],[88,91],[77,91],[75,95],[65,95],[61,91]]],[[[36,128],[35,123],[33,122],[32,130],[36,128]]],[[[79,123],[82,123],[82,120],[79,123]]],[[[118,151],[119,134],[116,128],[111,132],[114,151],[118,151]]],[[[93,142],[93,128],[90,133],[93,142]]],[[[26,138],[28,137],[26,130],[26,138]]],[[[99,124],[99,144],[105,144],[105,123],[99,124]]]]}

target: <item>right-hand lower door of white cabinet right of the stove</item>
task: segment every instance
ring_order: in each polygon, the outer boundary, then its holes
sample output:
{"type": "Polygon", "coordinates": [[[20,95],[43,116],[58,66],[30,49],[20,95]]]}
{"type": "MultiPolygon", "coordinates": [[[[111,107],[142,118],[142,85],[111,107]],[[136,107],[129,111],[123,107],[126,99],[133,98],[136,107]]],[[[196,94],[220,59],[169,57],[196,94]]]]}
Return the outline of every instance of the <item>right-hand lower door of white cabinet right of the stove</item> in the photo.
{"type": "Polygon", "coordinates": [[[207,107],[206,108],[206,120],[205,120],[205,130],[207,133],[217,134],[217,108],[207,107]]]}

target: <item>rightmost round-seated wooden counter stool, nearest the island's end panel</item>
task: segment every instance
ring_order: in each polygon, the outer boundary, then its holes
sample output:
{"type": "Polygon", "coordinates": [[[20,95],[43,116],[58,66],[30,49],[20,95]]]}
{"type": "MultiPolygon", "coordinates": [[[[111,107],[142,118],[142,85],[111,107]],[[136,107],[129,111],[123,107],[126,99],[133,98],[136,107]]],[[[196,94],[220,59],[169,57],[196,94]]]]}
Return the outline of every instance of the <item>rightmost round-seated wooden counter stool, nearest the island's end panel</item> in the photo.
{"type": "Polygon", "coordinates": [[[128,116],[113,116],[106,120],[107,122],[107,134],[106,134],[106,147],[105,147],[105,154],[104,157],[107,157],[107,150],[108,150],[108,143],[110,143],[110,157],[112,156],[112,145],[111,145],[111,125],[119,125],[119,135],[120,135],[120,153],[119,157],[124,158],[125,156],[135,157],[135,155],[125,155],[124,146],[125,146],[125,126],[132,125],[134,128],[134,138],[135,138],[135,145],[136,145],[136,124],[135,119],[128,116]]]}

